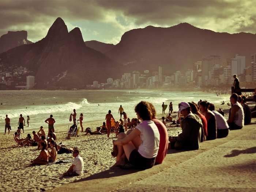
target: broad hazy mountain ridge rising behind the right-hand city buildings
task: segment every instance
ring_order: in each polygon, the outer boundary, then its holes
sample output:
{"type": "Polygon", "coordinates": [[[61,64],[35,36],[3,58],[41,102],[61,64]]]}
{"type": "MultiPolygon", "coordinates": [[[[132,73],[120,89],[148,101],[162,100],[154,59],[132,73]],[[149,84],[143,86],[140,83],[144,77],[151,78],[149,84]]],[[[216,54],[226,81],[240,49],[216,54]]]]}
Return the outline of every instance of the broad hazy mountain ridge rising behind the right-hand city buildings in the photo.
{"type": "Polygon", "coordinates": [[[147,26],[127,31],[105,54],[132,70],[158,71],[158,66],[162,66],[163,75],[170,75],[176,70],[192,69],[194,62],[209,55],[219,55],[226,61],[240,54],[246,56],[249,65],[255,52],[256,34],[217,33],[180,23],[167,28],[147,26]]]}

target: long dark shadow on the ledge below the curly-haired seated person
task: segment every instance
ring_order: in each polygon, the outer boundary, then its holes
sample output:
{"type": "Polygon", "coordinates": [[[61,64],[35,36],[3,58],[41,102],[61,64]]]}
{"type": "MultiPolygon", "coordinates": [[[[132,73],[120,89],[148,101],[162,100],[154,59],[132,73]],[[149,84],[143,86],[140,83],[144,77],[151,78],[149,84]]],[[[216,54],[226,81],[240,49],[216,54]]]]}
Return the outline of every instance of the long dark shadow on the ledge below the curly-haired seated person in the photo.
{"type": "Polygon", "coordinates": [[[94,175],[91,175],[86,178],[82,178],[80,180],[74,181],[74,182],[80,182],[80,181],[88,181],[88,180],[94,180],[94,179],[101,179],[101,178],[110,178],[110,177],[117,177],[117,176],[122,176],[122,175],[127,175],[127,174],[132,174],[142,171],[142,169],[120,169],[118,167],[114,169],[108,169],[103,172],[96,173],[94,175]]]}

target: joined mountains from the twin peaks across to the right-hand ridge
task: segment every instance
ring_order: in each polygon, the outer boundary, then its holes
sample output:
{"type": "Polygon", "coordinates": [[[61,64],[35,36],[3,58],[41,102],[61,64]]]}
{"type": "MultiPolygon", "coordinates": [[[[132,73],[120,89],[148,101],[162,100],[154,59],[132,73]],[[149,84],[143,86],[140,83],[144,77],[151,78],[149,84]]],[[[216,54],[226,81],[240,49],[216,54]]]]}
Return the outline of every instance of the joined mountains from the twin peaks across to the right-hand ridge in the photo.
{"type": "Polygon", "coordinates": [[[0,62],[34,71],[38,88],[84,88],[94,80],[120,79],[123,73],[135,70],[158,71],[158,66],[163,67],[163,75],[171,75],[192,69],[194,62],[209,55],[225,61],[240,54],[246,56],[248,65],[255,52],[256,34],[217,33],[188,23],[133,29],[117,45],[84,42],[78,27],[68,32],[64,21],[57,18],[45,38],[1,53],[0,62]]]}

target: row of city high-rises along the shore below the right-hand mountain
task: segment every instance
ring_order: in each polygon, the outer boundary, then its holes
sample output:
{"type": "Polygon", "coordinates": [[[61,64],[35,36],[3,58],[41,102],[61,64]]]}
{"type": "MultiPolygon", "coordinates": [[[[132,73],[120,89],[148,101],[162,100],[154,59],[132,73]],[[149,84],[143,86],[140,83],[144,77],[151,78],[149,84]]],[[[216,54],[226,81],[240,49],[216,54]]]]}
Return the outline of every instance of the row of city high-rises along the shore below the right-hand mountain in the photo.
{"type": "Polygon", "coordinates": [[[211,55],[202,57],[202,61],[193,63],[192,69],[185,72],[175,71],[173,74],[162,74],[163,67],[159,66],[158,71],[145,69],[142,73],[133,71],[125,73],[120,79],[108,78],[106,83],[93,81],[93,85],[87,88],[121,88],[121,89],[155,89],[161,87],[177,86],[220,86],[231,84],[233,75],[242,78],[243,82],[256,82],[256,54],[251,56],[251,65],[245,66],[245,56],[236,54],[221,62],[221,57],[211,55]],[[152,75],[152,76],[150,76],[152,75]]]}

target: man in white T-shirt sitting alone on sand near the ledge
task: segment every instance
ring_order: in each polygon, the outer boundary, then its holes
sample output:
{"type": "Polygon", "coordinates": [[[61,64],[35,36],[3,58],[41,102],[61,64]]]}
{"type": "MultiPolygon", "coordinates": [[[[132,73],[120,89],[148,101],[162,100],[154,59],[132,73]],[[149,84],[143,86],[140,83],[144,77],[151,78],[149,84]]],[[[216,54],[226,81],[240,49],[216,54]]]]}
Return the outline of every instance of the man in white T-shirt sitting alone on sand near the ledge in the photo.
{"type": "Polygon", "coordinates": [[[63,176],[79,176],[83,174],[83,158],[79,155],[78,148],[73,151],[73,157],[75,157],[72,165],[69,167],[67,172],[63,173],[63,176]]]}

